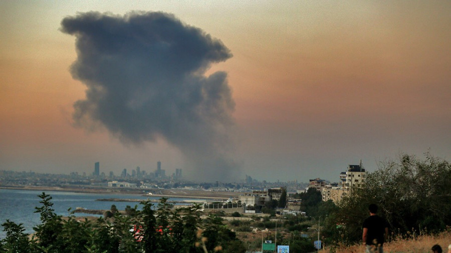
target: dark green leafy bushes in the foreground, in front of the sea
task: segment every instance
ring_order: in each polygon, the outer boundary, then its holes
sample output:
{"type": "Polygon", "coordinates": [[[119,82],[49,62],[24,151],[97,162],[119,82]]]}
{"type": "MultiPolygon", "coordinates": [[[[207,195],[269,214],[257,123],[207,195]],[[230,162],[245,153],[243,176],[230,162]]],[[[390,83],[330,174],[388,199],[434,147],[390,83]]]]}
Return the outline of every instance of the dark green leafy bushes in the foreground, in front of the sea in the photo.
{"type": "MultiPolygon", "coordinates": [[[[161,198],[154,210],[150,201],[142,209],[127,206],[125,215],[112,206],[111,217],[96,222],[62,218],[52,208],[52,197],[39,195],[36,207],[42,223],[34,229],[34,239],[24,233],[22,224],[3,223],[7,237],[0,241],[0,252],[245,252],[245,245],[216,214],[200,218],[200,204],[171,210],[161,198]],[[114,214],[113,214],[114,213],[114,214]]],[[[248,222],[249,225],[249,222],[248,222]]]]}

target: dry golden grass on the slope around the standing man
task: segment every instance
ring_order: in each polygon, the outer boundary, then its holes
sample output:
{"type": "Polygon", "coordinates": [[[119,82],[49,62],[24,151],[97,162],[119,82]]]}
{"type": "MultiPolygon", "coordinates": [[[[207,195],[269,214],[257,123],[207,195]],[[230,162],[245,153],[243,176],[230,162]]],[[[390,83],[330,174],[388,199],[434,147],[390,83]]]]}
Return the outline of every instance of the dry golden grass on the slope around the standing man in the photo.
{"type": "MultiPolygon", "coordinates": [[[[439,244],[443,252],[447,252],[451,243],[451,229],[436,235],[416,235],[409,234],[406,237],[398,236],[384,244],[384,253],[404,253],[404,252],[432,252],[430,248],[434,244],[439,244]]],[[[342,246],[337,251],[325,250],[323,252],[351,253],[365,252],[362,244],[352,246],[342,246]]]]}

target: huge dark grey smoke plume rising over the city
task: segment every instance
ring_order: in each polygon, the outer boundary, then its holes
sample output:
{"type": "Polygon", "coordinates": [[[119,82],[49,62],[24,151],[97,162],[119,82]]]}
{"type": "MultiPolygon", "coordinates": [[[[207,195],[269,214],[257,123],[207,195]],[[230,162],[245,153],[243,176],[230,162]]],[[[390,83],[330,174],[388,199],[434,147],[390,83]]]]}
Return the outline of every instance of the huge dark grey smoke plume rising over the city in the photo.
{"type": "Polygon", "coordinates": [[[87,12],[61,24],[77,38],[71,73],[88,87],[86,98],[74,103],[77,125],[100,123],[128,143],[162,136],[198,178],[234,176],[235,103],[227,74],[205,76],[212,63],[232,56],[220,40],[163,12],[87,12]]]}

